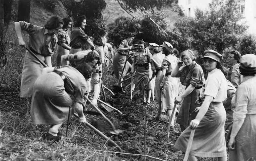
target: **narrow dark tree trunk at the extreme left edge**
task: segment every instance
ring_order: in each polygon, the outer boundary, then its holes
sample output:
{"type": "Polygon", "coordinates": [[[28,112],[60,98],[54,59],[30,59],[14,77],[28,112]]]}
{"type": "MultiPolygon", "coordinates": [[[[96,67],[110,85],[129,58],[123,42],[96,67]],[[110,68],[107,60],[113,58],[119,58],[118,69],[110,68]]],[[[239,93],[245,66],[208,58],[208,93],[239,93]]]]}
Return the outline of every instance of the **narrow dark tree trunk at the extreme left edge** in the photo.
{"type": "Polygon", "coordinates": [[[0,0],[0,67],[6,65],[5,33],[4,33],[4,0],[0,0]]]}

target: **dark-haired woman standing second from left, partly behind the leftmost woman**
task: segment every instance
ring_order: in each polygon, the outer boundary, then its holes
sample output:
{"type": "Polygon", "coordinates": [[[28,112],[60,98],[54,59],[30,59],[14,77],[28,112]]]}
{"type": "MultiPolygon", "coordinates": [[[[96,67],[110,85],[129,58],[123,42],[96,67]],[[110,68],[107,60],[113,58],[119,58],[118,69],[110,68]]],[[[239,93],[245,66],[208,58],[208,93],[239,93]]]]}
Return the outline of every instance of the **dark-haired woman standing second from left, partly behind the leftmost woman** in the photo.
{"type": "Polygon", "coordinates": [[[67,30],[71,29],[72,20],[70,18],[64,18],[62,19],[64,22],[64,25],[62,27],[62,30],[58,33],[58,42],[57,42],[57,49],[56,49],[56,55],[57,55],[57,66],[61,66],[61,56],[66,55],[69,53],[69,50],[71,47],[69,46],[70,38],[68,36],[67,30]]]}

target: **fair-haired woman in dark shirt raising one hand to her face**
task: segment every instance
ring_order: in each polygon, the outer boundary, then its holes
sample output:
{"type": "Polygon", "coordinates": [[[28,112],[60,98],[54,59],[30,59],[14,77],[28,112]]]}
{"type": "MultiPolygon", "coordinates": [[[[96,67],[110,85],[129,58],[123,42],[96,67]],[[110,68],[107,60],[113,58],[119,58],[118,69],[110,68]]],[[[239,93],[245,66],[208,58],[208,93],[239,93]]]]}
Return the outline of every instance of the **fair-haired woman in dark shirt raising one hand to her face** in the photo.
{"type": "Polygon", "coordinates": [[[193,51],[183,51],[181,60],[185,66],[183,66],[182,62],[178,63],[171,76],[181,77],[181,84],[186,86],[185,91],[175,98],[176,102],[181,102],[184,99],[176,120],[181,126],[181,131],[184,131],[189,126],[190,121],[196,117],[197,113],[194,110],[199,106],[195,104],[195,101],[199,98],[198,95],[205,80],[203,69],[195,62],[193,51]]]}

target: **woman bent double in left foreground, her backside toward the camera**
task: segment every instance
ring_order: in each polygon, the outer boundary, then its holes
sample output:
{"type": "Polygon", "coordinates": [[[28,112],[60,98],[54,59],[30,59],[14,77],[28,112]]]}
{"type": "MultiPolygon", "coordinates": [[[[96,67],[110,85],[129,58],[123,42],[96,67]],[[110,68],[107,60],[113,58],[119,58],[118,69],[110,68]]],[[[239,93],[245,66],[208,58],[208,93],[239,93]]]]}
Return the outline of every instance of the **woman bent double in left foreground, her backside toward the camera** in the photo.
{"type": "Polygon", "coordinates": [[[80,122],[86,122],[83,114],[84,94],[86,92],[85,80],[90,78],[92,67],[87,63],[76,68],[64,66],[59,69],[44,68],[43,75],[38,77],[33,88],[31,105],[31,118],[35,124],[50,124],[51,127],[43,137],[47,140],[59,141],[61,139],[59,128],[73,115],[73,101],[69,95],[74,96],[74,108],[80,122]]]}

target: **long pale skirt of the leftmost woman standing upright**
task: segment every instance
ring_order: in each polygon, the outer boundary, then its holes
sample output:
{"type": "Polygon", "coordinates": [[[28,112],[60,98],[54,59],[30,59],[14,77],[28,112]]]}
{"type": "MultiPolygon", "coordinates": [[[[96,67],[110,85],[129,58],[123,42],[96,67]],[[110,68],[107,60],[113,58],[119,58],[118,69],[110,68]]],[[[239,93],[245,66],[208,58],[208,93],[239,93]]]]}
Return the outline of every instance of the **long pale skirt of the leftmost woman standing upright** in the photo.
{"type": "MultiPolygon", "coordinates": [[[[43,62],[45,57],[36,54],[43,62]]],[[[21,98],[29,98],[32,96],[32,90],[36,79],[42,75],[44,66],[28,51],[25,54],[23,69],[21,74],[21,98]]]]}

